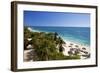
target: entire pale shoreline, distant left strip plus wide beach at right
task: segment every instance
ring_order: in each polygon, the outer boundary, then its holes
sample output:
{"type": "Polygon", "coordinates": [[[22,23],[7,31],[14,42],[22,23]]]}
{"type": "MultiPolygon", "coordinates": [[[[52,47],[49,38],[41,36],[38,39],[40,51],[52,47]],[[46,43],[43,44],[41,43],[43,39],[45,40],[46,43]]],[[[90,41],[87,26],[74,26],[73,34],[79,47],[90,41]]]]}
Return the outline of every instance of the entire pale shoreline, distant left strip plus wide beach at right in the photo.
{"type": "MultiPolygon", "coordinates": [[[[31,31],[31,32],[41,32],[41,31],[38,31],[38,30],[35,30],[35,29],[32,29],[30,27],[28,27],[28,30],[31,31]]],[[[48,32],[45,32],[45,33],[48,33],[48,32]]],[[[60,36],[60,35],[58,35],[60,36]]],[[[61,36],[60,36],[61,37],[61,36]]],[[[86,55],[89,55],[90,54],[90,47],[89,46],[86,46],[86,45],[81,45],[79,43],[75,43],[75,42],[72,42],[70,40],[66,40],[64,39],[63,37],[61,37],[62,40],[65,42],[65,44],[62,44],[63,48],[64,48],[64,51],[63,51],[63,54],[66,55],[66,56],[69,56],[69,51],[73,48],[73,52],[75,52],[76,50],[79,50],[79,55],[81,56],[81,59],[86,59],[86,55]],[[84,49],[83,49],[84,48],[84,49]]]]}

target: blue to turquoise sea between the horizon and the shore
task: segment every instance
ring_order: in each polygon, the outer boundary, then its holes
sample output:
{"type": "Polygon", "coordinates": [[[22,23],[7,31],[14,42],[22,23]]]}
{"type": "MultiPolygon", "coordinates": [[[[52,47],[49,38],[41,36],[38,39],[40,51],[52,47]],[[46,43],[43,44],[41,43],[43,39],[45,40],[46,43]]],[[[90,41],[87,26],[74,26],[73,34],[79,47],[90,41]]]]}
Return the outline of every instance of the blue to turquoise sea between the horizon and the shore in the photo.
{"type": "Polygon", "coordinates": [[[43,27],[29,26],[33,30],[41,32],[57,32],[64,40],[75,42],[81,45],[90,46],[89,27],[43,27]]]}

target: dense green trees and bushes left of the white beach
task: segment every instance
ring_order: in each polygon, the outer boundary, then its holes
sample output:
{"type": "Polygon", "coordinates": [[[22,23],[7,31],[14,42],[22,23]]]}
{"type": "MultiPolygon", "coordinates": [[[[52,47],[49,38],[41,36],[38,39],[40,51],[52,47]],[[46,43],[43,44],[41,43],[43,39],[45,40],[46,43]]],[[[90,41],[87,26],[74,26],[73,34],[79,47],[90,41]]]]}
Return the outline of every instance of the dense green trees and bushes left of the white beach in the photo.
{"type": "Polygon", "coordinates": [[[65,56],[62,47],[64,43],[56,32],[30,32],[27,27],[24,28],[24,50],[27,50],[28,44],[33,46],[35,54],[33,61],[80,59],[79,55],[65,56]],[[32,38],[32,40],[28,41],[27,38],[32,38]]]}

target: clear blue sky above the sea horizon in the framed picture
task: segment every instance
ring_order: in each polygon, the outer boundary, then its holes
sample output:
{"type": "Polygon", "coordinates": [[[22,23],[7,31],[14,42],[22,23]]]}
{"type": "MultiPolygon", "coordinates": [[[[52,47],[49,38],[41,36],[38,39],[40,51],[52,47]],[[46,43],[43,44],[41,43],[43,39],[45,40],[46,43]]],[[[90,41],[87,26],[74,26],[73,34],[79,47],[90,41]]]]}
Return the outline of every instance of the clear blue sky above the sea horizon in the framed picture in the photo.
{"type": "Polygon", "coordinates": [[[90,27],[90,14],[24,11],[24,26],[90,27]]]}

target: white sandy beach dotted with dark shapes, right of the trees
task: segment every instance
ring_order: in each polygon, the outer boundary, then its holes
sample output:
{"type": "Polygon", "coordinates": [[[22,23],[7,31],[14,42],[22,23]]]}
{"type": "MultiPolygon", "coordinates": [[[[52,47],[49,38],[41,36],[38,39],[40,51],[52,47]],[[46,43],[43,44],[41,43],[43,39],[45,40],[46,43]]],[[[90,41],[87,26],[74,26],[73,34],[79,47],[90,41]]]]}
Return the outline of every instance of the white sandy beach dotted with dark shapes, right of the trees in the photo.
{"type": "MultiPolygon", "coordinates": [[[[70,42],[70,41],[66,41],[64,40],[65,44],[63,44],[62,46],[64,47],[64,51],[63,54],[68,56],[68,51],[70,51],[72,48],[73,50],[78,49],[79,55],[88,55],[90,53],[90,47],[89,46],[85,46],[85,45],[81,45],[81,44],[76,44],[75,42],[70,42]]],[[[84,59],[84,57],[81,57],[81,59],[84,59]]]]}

